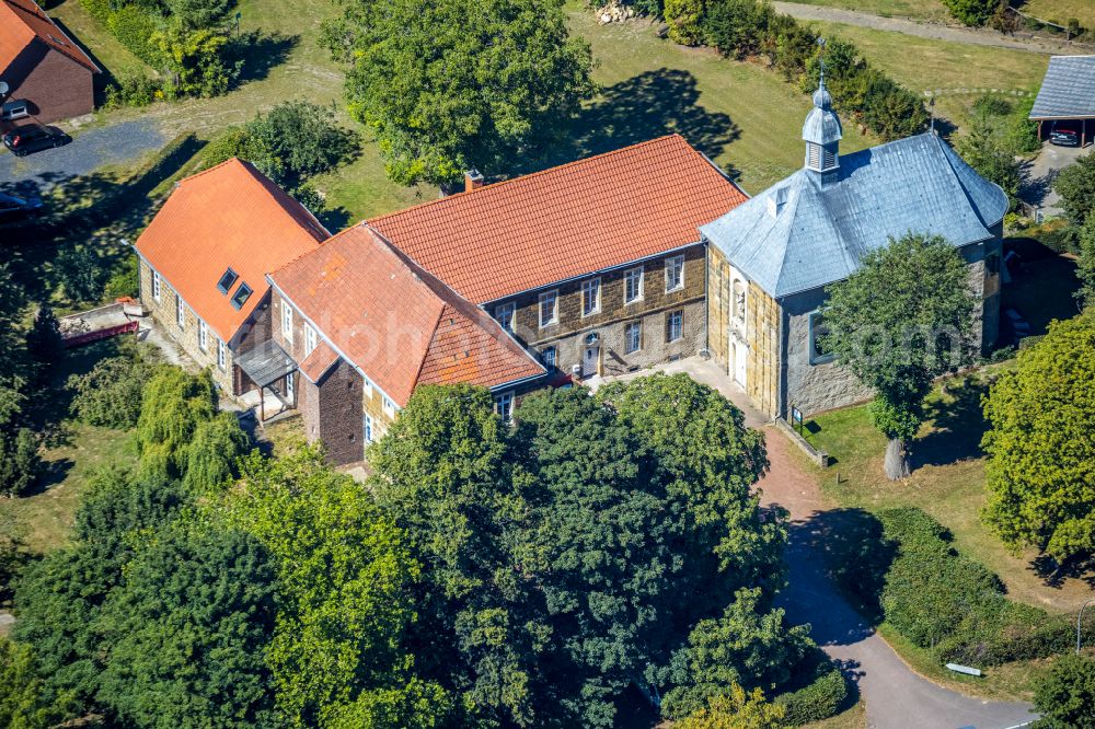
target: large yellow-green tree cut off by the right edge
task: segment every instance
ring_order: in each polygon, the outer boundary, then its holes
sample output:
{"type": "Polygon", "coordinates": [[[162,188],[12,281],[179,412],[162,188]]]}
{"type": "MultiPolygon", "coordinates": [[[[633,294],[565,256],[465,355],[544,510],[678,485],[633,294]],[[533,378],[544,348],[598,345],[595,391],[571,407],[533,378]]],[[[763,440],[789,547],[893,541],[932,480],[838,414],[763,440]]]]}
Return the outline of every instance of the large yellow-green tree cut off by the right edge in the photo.
{"type": "Polygon", "coordinates": [[[1095,316],[1050,324],[1001,373],[984,414],[989,523],[1058,560],[1095,551],[1095,316]]]}

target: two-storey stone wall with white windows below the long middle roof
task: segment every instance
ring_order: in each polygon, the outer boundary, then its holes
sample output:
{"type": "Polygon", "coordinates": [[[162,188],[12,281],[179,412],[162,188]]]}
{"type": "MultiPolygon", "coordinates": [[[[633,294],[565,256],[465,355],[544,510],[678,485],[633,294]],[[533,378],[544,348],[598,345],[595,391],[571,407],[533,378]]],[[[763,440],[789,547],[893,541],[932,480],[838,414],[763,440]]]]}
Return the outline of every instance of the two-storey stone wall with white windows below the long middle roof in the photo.
{"type": "Polygon", "coordinates": [[[596,276],[601,279],[600,311],[589,316],[581,315],[581,284],[595,276],[557,287],[558,321],[543,328],[540,327],[540,293],[550,287],[492,302],[486,310],[494,315],[498,305],[512,301],[517,338],[538,351],[556,347],[556,367],[567,373],[581,362],[585,337],[593,332],[600,337],[602,374],[620,374],[670,358],[688,357],[702,349],[705,340],[704,250],[696,244],[672,255],[684,256],[683,287],[676,291],[666,291],[666,258],[672,257],[667,255],[642,264],[643,297],[631,304],[624,303],[624,273],[639,264],[596,276]],[[683,337],[668,343],[666,316],[673,311],[684,312],[683,337]],[[642,322],[641,348],[625,354],[624,327],[635,321],[642,322]]]}

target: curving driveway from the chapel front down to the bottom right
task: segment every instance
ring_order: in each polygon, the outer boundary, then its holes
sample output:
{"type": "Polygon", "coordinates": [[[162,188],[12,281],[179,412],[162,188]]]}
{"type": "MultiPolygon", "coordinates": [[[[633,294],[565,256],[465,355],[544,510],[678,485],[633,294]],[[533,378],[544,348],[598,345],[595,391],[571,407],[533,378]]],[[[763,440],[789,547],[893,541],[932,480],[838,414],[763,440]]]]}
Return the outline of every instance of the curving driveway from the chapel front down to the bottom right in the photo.
{"type": "MultiPolygon", "coordinates": [[[[795,445],[756,410],[741,389],[712,361],[689,358],[656,370],[688,372],[740,407],[746,423],[762,428],[771,462],[761,479],[762,501],[791,512],[786,552],[789,586],[779,598],[792,623],[809,623],[810,635],[843,666],[866,703],[867,726],[874,729],[1008,729],[1034,717],[1027,704],[986,702],[938,686],[913,673],[894,649],[849,605],[826,577],[825,545],[817,529],[825,510],[817,482],[793,458],[795,445]]],[[[647,370],[645,373],[648,373],[647,370]]],[[[624,375],[627,380],[644,372],[624,375]]],[[[597,380],[595,378],[595,380],[597,380]]],[[[593,385],[599,384],[593,382],[593,385]]]]}

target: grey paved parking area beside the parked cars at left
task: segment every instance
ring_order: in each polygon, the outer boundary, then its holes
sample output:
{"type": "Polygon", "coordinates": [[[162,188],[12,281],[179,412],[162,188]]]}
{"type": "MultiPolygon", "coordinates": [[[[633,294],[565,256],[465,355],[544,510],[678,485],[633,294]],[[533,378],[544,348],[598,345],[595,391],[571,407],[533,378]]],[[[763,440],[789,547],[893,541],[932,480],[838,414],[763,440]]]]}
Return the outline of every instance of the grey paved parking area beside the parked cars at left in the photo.
{"type": "Polygon", "coordinates": [[[85,175],[104,164],[124,164],[164,144],[164,135],[149,119],[123,121],[108,127],[79,131],[65,147],[45,149],[26,157],[15,157],[0,147],[0,183],[53,181],[85,175]]]}

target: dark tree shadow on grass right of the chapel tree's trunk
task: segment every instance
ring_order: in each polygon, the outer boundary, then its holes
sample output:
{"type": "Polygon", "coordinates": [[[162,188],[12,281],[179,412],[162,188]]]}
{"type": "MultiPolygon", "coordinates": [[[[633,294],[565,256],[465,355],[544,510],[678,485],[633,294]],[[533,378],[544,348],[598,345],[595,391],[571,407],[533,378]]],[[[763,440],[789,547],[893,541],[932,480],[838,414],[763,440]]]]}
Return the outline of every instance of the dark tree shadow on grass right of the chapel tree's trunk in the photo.
{"type": "Polygon", "coordinates": [[[963,377],[944,385],[944,396],[927,405],[927,419],[935,426],[932,432],[913,441],[912,468],[925,465],[948,465],[981,455],[981,438],[988,423],[981,409],[981,398],[988,394],[988,383],[963,377]]]}

